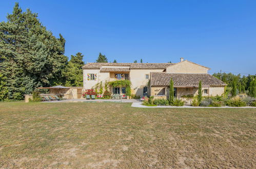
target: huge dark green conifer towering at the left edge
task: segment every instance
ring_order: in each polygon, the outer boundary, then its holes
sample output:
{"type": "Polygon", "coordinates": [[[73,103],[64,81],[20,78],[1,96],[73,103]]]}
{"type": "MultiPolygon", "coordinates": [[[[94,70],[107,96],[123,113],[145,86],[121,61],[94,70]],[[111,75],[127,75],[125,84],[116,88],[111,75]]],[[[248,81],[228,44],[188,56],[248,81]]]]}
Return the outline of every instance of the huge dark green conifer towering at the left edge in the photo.
{"type": "Polygon", "coordinates": [[[36,87],[65,80],[65,39],[52,35],[29,9],[18,3],[7,22],[0,23],[0,72],[6,79],[9,99],[22,99],[36,87]]]}

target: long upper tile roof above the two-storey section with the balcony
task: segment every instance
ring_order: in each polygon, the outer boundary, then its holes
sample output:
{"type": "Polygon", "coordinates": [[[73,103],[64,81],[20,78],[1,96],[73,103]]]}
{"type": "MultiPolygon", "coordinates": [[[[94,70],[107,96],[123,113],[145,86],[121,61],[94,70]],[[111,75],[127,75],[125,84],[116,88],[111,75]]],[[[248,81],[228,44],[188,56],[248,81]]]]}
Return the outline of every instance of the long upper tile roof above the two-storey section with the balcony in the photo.
{"type": "Polygon", "coordinates": [[[101,69],[102,66],[129,66],[130,69],[165,69],[172,63],[88,63],[83,69],[101,69]]]}

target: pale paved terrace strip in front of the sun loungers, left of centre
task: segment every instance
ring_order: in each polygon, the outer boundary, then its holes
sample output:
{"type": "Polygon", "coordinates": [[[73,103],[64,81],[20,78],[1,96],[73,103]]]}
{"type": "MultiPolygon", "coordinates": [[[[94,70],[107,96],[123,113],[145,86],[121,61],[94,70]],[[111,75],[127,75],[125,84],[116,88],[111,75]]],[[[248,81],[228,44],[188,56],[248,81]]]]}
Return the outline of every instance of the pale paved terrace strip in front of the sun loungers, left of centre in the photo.
{"type": "Polygon", "coordinates": [[[134,103],[140,102],[138,99],[66,99],[66,100],[55,100],[55,101],[43,101],[43,102],[123,102],[123,103],[134,103]]]}

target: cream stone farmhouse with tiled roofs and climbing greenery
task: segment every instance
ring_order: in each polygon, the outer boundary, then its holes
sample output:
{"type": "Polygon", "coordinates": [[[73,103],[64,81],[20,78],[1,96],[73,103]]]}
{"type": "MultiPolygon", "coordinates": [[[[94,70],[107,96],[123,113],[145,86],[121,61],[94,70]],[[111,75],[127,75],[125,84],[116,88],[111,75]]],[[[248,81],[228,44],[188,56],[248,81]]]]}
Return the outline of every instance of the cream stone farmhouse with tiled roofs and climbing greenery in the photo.
{"type": "MultiPolygon", "coordinates": [[[[224,93],[226,84],[208,74],[205,66],[181,58],[178,63],[88,63],[83,66],[84,90],[91,89],[102,81],[130,80],[131,93],[136,96],[168,97],[170,79],[174,82],[174,95],[198,93],[202,81],[203,96],[216,96],[224,93]]],[[[124,94],[125,87],[109,87],[112,94],[124,94]]]]}

